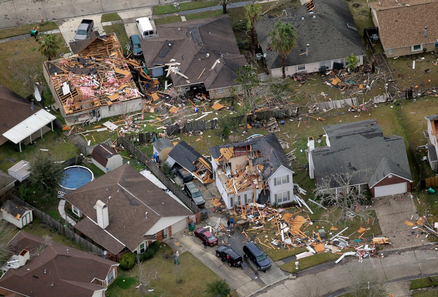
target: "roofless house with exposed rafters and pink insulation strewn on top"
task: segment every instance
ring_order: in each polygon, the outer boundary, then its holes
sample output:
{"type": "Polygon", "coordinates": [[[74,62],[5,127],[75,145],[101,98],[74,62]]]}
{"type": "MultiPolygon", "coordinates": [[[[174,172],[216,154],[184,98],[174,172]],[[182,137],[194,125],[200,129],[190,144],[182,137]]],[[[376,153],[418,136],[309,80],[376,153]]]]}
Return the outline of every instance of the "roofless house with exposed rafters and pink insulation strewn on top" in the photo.
{"type": "Polygon", "coordinates": [[[74,46],[74,56],[43,63],[44,77],[67,125],[143,108],[129,67],[134,62],[123,56],[116,34],[93,33],[74,46]]]}

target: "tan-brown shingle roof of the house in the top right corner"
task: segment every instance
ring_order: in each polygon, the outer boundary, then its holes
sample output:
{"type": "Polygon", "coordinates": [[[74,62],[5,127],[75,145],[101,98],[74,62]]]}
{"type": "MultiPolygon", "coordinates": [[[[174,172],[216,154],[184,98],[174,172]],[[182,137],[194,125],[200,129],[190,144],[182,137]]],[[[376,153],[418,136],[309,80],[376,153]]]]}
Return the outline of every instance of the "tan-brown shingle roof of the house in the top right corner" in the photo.
{"type": "Polygon", "coordinates": [[[394,49],[436,42],[438,0],[413,0],[403,3],[410,6],[393,5],[392,1],[382,3],[383,6],[379,6],[377,2],[369,4],[376,10],[383,47],[394,49]],[[427,37],[424,37],[424,27],[427,27],[427,37]]]}

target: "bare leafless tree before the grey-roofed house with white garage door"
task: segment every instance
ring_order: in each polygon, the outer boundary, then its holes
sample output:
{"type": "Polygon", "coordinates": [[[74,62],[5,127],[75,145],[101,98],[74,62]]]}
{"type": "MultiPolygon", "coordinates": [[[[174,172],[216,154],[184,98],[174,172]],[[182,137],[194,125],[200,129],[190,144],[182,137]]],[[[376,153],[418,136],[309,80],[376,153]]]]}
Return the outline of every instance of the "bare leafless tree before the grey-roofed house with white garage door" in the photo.
{"type": "MultiPolygon", "coordinates": [[[[353,178],[357,174],[365,174],[364,171],[355,173],[334,172],[322,179],[321,184],[314,189],[313,194],[315,200],[321,205],[330,205],[329,216],[336,223],[345,223],[355,216],[360,219],[367,219],[371,216],[371,211],[359,211],[358,208],[364,205],[367,200],[367,195],[364,189],[359,186],[350,186],[353,178]]],[[[319,207],[319,206],[318,206],[319,207]]]]}

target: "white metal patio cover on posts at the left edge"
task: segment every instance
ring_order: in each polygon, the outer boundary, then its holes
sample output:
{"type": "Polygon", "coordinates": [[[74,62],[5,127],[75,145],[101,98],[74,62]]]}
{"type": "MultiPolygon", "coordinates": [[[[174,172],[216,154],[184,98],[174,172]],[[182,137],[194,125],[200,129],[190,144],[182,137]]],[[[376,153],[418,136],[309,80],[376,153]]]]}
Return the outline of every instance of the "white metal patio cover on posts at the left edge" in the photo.
{"type": "Polygon", "coordinates": [[[27,119],[23,120],[20,124],[15,125],[5,133],[3,133],[3,136],[10,141],[14,142],[15,144],[20,145],[20,152],[21,152],[21,141],[25,140],[26,138],[30,138],[30,142],[32,143],[32,134],[37,132],[38,130],[41,131],[41,138],[42,138],[42,128],[45,127],[47,124],[52,123],[52,131],[53,131],[53,120],[55,120],[56,117],[47,112],[46,110],[38,110],[36,113],[32,114],[27,119]]]}

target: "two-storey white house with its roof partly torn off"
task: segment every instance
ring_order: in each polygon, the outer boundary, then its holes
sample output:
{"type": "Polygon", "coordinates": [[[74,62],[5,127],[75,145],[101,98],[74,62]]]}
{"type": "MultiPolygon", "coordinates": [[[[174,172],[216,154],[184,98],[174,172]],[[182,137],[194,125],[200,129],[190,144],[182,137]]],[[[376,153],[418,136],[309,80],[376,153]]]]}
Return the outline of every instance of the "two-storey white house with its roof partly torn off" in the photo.
{"type": "Polygon", "coordinates": [[[294,173],[275,134],[209,148],[216,187],[228,209],[292,202],[294,173]]]}

